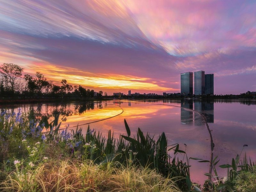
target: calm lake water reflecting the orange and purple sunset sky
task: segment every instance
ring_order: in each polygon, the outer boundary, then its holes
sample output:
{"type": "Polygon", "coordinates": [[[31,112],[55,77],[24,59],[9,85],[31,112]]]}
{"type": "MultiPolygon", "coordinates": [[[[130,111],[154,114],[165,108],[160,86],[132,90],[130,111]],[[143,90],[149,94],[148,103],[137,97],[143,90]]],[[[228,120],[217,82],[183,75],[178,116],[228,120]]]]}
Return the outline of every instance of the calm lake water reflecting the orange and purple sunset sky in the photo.
{"type": "MultiPolygon", "coordinates": [[[[108,130],[114,134],[126,134],[124,118],[135,134],[138,127],[152,136],[165,132],[168,144],[180,143],[181,149],[187,145],[188,157],[209,160],[211,156],[210,134],[198,111],[207,119],[215,144],[213,157],[220,158],[220,164],[230,163],[232,157],[240,154],[243,145],[246,154],[256,159],[256,101],[215,100],[112,100],[103,102],[68,103],[68,104],[25,104],[1,106],[1,110],[17,112],[33,111],[36,119],[48,118],[57,120],[61,128],[69,124],[70,129],[78,125],[84,133],[90,128],[100,131],[103,135],[108,130]],[[195,111],[193,111],[195,110],[195,111]],[[57,116],[60,112],[60,116],[57,116]],[[114,116],[114,117],[113,117],[114,116]],[[112,117],[112,118],[111,118],[112,117]],[[102,121],[99,121],[102,120],[102,121]]],[[[203,183],[209,171],[208,163],[197,163],[191,160],[191,175],[195,182],[203,183]]],[[[224,176],[226,169],[220,169],[219,175],[224,176]]]]}

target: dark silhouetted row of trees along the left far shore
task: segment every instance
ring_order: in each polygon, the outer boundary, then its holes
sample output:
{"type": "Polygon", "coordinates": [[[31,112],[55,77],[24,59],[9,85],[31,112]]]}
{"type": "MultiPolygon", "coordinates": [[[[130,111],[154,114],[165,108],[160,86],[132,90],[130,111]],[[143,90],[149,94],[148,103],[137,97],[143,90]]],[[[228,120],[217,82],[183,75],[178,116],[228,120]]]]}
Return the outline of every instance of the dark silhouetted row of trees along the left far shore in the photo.
{"type": "Polygon", "coordinates": [[[21,77],[22,72],[23,68],[12,63],[4,63],[0,67],[0,97],[102,98],[103,95],[102,91],[94,92],[82,85],[70,85],[66,79],[62,79],[61,85],[55,85],[40,72],[36,72],[35,76],[25,74],[21,77]]]}

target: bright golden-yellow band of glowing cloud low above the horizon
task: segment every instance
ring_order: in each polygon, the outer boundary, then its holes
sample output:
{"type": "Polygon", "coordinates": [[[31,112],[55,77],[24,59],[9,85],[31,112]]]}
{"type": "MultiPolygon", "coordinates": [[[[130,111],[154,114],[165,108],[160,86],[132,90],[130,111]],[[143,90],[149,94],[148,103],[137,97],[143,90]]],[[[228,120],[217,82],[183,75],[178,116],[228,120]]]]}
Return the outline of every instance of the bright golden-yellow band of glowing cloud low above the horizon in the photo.
{"type": "Polygon", "coordinates": [[[68,84],[81,84],[86,87],[105,89],[137,89],[150,91],[178,91],[178,89],[163,87],[150,81],[150,78],[137,76],[124,76],[118,74],[101,74],[84,72],[70,67],[58,67],[51,64],[35,63],[30,67],[34,71],[40,71],[48,80],[59,83],[66,79],[68,84]]]}

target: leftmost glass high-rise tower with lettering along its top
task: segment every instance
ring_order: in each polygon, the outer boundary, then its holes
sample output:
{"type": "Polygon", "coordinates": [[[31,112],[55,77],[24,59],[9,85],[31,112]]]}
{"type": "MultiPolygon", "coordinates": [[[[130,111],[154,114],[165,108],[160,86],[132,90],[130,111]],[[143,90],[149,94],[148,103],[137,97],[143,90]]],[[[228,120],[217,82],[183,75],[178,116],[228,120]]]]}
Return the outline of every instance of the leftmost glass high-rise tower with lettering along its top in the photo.
{"type": "Polygon", "coordinates": [[[193,73],[186,72],[180,74],[180,93],[193,95],[193,73]]]}

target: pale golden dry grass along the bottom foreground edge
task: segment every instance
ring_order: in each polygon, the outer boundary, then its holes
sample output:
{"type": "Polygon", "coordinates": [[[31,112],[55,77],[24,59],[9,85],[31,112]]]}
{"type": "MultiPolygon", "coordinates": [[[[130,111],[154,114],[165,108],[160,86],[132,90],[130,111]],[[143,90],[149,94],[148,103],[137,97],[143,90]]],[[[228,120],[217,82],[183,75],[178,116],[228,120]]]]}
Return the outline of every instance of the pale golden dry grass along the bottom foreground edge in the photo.
{"type": "Polygon", "coordinates": [[[116,168],[113,163],[95,165],[90,161],[70,160],[44,163],[34,170],[18,170],[0,184],[0,191],[19,192],[75,192],[75,191],[130,191],[178,192],[171,179],[155,170],[142,167],[116,168]],[[22,174],[23,172],[23,174],[22,174]]]}

